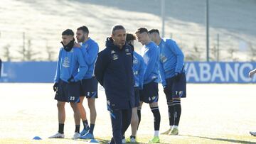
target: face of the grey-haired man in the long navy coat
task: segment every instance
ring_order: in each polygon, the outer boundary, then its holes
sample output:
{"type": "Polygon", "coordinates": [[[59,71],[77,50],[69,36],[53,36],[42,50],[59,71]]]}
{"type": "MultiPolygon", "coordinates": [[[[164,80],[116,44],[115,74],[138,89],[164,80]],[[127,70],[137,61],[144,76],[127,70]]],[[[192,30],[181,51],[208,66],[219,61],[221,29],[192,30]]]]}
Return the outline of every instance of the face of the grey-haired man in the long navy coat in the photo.
{"type": "Polygon", "coordinates": [[[114,40],[114,45],[117,45],[119,47],[123,46],[125,44],[125,39],[126,39],[126,31],[121,29],[121,30],[116,30],[114,33],[111,35],[111,37],[114,40]]]}

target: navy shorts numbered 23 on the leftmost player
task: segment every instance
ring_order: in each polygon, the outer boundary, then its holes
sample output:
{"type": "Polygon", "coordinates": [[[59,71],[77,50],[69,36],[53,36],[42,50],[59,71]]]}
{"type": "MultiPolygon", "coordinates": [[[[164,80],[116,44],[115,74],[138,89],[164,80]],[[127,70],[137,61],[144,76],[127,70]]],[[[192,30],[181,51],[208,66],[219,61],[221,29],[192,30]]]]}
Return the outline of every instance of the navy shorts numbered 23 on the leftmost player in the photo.
{"type": "Polygon", "coordinates": [[[60,79],[54,99],[56,99],[57,101],[77,103],[79,102],[80,96],[79,89],[80,81],[68,83],[60,79]]]}

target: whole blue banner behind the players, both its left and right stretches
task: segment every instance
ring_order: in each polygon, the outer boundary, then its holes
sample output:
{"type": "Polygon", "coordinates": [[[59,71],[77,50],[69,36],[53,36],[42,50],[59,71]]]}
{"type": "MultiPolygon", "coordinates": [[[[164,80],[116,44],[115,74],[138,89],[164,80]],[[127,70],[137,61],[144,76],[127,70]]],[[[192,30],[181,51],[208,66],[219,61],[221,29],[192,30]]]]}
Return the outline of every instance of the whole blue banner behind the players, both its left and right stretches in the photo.
{"type": "MultiPolygon", "coordinates": [[[[186,62],[188,83],[255,83],[255,62],[186,62]]],[[[53,82],[56,62],[3,62],[0,82],[53,82]]]]}

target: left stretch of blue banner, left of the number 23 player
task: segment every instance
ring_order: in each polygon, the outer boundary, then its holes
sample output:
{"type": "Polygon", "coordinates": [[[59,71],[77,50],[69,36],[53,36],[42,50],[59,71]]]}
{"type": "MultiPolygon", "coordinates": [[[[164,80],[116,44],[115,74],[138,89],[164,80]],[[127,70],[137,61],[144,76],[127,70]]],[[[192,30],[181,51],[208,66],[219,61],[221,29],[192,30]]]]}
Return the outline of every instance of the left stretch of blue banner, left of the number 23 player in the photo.
{"type": "Polygon", "coordinates": [[[3,62],[0,82],[53,82],[56,62],[3,62]]]}

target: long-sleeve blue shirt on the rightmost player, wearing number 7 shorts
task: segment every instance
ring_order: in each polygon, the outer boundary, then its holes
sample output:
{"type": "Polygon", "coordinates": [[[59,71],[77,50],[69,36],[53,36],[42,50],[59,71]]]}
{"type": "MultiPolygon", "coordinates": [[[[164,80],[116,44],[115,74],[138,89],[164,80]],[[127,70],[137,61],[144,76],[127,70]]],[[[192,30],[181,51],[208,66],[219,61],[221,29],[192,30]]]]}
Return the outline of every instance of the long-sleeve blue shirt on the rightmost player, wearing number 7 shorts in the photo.
{"type": "Polygon", "coordinates": [[[162,39],[159,43],[159,56],[161,84],[166,86],[166,79],[174,77],[175,73],[181,73],[184,65],[184,55],[174,40],[162,39]]]}

